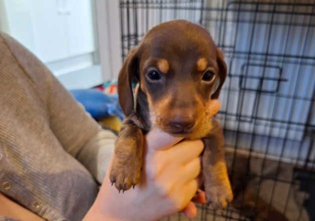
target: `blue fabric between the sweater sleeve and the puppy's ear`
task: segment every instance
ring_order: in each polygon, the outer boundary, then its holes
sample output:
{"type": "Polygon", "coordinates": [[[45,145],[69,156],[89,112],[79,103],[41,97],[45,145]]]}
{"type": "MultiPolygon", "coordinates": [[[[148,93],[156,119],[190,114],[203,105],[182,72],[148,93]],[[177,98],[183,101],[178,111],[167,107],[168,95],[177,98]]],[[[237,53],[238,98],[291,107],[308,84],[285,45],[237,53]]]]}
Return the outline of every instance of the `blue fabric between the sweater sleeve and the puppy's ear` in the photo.
{"type": "Polygon", "coordinates": [[[70,93],[94,119],[117,116],[122,121],[124,118],[116,94],[105,94],[97,89],[74,89],[70,93]]]}

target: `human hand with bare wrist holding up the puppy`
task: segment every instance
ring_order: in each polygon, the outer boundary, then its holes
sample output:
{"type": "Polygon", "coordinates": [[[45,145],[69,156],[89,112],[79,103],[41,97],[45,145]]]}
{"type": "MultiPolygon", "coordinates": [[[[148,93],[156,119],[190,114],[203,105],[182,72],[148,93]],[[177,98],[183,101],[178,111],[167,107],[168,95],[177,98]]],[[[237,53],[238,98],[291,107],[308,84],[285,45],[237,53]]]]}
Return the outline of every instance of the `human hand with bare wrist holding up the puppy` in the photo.
{"type": "MultiPolygon", "coordinates": [[[[220,102],[214,100],[210,107],[212,115],[219,107],[220,102]]],[[[153,128],[146,135],[140,182],[134,189],[119,194],[106,173],[85,220],[156,220],[180,210],[194,216],[197,211],[190,200],[199,186],[203,144],[200,140],[178,143],[181,140],[153,128]]],[[[201,193],[197,201],[204,198],[201,193]]]]}

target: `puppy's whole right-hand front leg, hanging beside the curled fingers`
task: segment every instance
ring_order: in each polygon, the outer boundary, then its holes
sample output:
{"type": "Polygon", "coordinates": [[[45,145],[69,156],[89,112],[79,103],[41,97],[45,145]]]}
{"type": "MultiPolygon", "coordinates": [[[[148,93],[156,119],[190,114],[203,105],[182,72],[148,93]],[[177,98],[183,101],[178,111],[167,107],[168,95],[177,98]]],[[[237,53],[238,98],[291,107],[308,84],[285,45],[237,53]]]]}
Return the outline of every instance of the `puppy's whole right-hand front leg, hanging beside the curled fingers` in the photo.
{"type": "Polygon", "coordinates": [[[232,201],[233,193],[224,159],[223,131],[215,119],[212,122],[210,135],[202,139],[205,145],[202,166],[207,204],[220,209],[232,201]]]}

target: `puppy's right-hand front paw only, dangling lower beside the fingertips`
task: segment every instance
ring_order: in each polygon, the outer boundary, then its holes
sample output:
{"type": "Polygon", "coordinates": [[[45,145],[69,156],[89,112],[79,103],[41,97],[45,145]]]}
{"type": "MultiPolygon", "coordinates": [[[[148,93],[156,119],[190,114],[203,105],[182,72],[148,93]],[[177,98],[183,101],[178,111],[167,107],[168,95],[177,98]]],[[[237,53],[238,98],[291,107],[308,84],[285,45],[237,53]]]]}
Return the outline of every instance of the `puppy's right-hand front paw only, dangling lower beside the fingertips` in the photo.
{"type": "Polygon", "coordinates": [[[223,209],[233,199],[233,192],[229,180],[218,183],[205,183],[207,205],[213,209],[223,209]]]}

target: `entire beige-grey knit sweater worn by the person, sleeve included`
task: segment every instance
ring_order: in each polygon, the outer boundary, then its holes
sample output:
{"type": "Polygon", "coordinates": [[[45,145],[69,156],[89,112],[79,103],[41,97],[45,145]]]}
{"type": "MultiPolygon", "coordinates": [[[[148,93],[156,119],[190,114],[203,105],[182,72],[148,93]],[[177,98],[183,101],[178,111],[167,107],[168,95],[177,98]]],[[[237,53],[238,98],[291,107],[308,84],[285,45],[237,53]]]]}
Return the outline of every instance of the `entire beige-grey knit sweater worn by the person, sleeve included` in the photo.
{"type": "Polygon", "coordinates": [[[115,139],[34,55],[0,33],[0,192],[45,219],[80,220],[115,139]]]}

